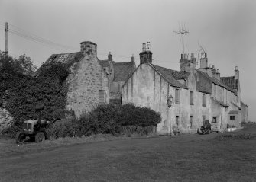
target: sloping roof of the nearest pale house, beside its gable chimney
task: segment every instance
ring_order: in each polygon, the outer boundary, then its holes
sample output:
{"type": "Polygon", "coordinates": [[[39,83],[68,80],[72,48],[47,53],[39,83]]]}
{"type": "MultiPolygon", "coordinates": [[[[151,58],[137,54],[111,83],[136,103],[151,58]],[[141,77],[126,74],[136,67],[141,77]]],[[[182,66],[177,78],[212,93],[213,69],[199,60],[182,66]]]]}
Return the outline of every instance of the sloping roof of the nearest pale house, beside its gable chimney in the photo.
{"type": "MultiPolygon", "coordinates": [[[[167,69],[167,68],[161,67],[159,65],[153,65],[153,64],[150,64],[150,65],[152,65],[152,67],[154,69],[156,69],[158,72],[160,72],[160,74],[163,75],[164,78],[167,79],[167,81],[169,82],[170,85],[180,87],[180,88],[186,88],[179,81],[177,81],[176,78],[174,77],[173,72],[177,72],[177,71],[173,71],[172,69],[167,69]]],[[[184,75],[180,74],[180,76],[184,76],[184,75]]]]}

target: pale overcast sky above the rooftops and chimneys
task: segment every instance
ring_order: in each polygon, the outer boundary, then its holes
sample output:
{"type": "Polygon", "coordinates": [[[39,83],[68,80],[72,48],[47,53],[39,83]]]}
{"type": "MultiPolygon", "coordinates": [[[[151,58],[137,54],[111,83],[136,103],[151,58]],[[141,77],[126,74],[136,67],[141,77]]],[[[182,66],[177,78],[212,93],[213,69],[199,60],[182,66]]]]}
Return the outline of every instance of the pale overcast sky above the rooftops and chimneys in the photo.
{"type": "Polygon", "coordinates": [[[79,43],[98,45],[99,59],[111,51],[115,62],[138,65],[141,44],[151,42],[154,64],[179,70],[182,44],[173,31],[186,28],[186,53],[203,46],[221,76],[238,66],[241,99],[256,120],[256,1],[254,0],[0,0],[0,50],[23,53],[41,65],[53,53],[79,51],[79,43]],[[50,42],[48,41],[50,40],[50,42]]]}

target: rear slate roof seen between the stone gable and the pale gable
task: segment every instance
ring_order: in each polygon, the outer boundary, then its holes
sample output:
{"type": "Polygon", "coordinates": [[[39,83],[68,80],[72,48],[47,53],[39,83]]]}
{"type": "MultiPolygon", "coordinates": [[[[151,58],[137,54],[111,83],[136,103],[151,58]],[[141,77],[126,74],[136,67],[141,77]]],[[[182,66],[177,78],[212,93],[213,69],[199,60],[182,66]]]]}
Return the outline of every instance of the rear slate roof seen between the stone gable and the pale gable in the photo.
{"type": "Polygon", "coordinates": [[[114,62],[114,80],[127,81],[133,70],[133,62],[114,62]]]}

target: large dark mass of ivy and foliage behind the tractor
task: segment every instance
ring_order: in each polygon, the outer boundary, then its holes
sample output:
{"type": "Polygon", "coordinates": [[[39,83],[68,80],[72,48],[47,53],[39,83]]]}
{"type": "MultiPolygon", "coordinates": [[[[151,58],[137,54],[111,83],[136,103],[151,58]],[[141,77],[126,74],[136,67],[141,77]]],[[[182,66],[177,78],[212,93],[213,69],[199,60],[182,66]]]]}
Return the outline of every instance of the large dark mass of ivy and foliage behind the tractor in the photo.
{"type": "Polygon", "coordinates": [[[63,116],[60,112],[66,104],[63,83],[68,75],[64,65],[43,65],[37,77],[33,77],[34,65],[25,55],[20,56],[18,63],[11,57],[2,58],[1,62],[0,107],[11,113],[15,126],[20,126],[24,120],[37,119],[35,107],[38,104],[44,105],[41,112],[44,119],[63,116]]]}

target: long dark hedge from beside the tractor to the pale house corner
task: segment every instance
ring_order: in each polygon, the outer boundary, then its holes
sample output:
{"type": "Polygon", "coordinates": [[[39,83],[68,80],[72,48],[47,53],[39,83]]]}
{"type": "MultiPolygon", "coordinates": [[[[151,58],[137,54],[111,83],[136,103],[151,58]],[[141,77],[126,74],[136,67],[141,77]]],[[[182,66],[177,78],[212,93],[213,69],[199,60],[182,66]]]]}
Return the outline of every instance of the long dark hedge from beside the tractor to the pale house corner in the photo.
{"type": "Polygon", "coordinates": [[[51,126],[53,138],[66,136],[92,136],[96,134],[147,135],[155,133],[160,123],[160,113],[147,107],[136,107],[134,104],[102,104],[95,110],[84,114],[79,120],[64,121],[59,126],[51,126]]]}

